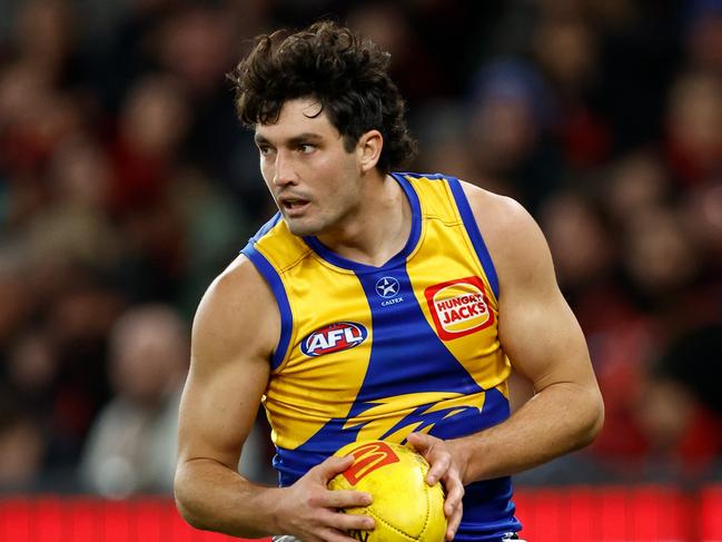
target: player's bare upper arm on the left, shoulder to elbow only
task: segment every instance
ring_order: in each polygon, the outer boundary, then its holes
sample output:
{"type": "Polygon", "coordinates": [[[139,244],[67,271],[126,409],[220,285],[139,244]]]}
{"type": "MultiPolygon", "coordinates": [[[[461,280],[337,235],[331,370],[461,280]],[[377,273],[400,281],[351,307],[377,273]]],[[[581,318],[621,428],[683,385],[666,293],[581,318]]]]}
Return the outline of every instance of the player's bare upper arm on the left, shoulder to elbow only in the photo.
{"type": "Polygon", "coordinates": [[[209,286],[194,319],[180,464],[210,459],[235,470],[268,383],[278,322],[273,292],[245,256],[209,286]]]}

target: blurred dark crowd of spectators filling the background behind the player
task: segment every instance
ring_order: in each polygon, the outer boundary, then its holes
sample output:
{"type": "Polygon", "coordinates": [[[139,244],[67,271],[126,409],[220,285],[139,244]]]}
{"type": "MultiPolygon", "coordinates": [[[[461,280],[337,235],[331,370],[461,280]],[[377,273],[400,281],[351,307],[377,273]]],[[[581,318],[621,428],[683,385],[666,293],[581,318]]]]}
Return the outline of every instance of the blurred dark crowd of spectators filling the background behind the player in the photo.
{"type": "Polygon", "coordinates": [[[0,489],[170,491],[195,307],[274,213],[226,73],[322,17],[393,53],[411,170],[547,235],[606,425],[520,483],[721,480],[722,0],[0,0],[0,489]]]}

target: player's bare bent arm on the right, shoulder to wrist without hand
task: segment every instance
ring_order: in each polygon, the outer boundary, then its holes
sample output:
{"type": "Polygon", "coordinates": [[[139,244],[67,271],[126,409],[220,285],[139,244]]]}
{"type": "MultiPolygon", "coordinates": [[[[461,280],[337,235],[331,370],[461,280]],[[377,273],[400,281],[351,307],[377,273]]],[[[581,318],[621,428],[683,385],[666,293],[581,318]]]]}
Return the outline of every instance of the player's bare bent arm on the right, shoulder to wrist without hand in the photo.
{"type": "Polygon", "coordinates": [[[506,422],[459,438],[463,479],[492,479],[589,444],[603,422],[586,342],[562,296],[544,236],[516,201],[465,186],[500,278],[498,334],[535,395],[506,422]]]}

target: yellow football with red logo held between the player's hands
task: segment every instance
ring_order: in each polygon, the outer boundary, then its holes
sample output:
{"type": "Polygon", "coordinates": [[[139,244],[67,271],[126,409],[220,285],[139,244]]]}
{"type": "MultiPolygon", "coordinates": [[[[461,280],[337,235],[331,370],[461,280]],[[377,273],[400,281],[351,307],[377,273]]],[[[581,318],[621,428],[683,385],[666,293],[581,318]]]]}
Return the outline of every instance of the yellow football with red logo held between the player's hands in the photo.
{"type": "Polygon", "coordinates": [[[442,542],[446,533],[444,491],[426,483],[428,463],[411,449],[389,442],[354,442],[334,455],[352,454],[354,463],[336,475],[332,490],[370,493],[366,507],[346,509],[348,514],[374,518],[373,531],[350,531],[360,542],[442,542]]]}

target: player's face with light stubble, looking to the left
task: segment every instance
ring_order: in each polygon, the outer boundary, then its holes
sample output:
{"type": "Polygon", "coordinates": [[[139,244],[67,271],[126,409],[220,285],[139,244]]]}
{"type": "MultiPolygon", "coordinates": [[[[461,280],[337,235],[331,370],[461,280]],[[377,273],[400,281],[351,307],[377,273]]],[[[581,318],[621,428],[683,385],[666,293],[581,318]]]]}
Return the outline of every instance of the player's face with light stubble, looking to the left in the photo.
{"type": "Polygon", "coordinates": [[[274,125],[256,126],[260,171],[290,231],[332,233],[360,201],[356,149],[311,99],[287,101],[274,125]]]}

